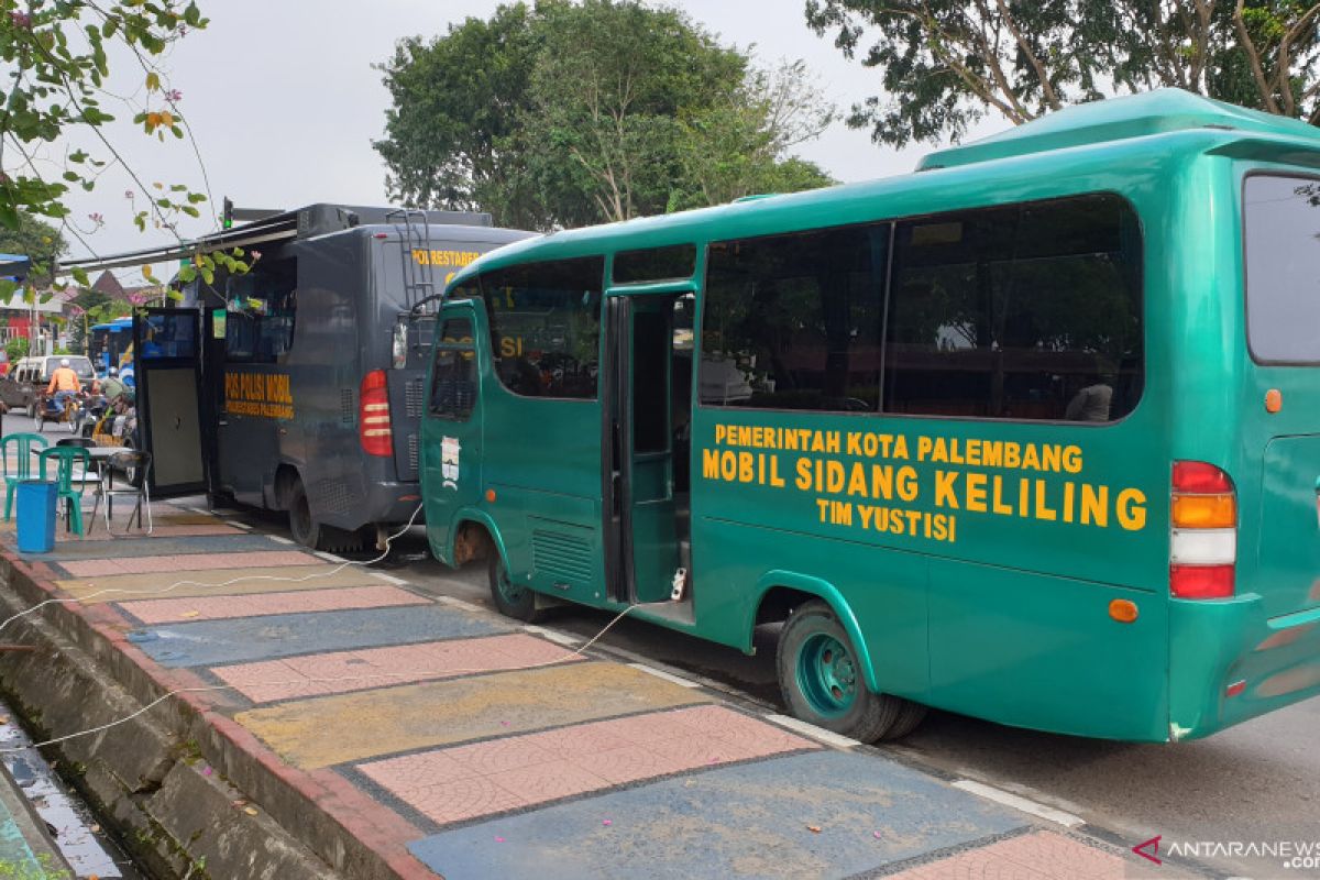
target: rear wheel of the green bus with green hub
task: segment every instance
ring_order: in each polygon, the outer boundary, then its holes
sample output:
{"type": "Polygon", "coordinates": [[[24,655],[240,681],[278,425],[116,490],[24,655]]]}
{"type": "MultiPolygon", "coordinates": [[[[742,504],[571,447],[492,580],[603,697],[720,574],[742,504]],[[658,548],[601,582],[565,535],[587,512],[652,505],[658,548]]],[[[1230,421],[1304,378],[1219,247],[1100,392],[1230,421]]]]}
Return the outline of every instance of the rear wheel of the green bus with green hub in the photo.
{"type": "Polygon", "coordinates": [[[793,610],[775,665],[789,712],[836,734],[863,743],[896,739],[925,715],[923,706],[867,689],[861,656],[825,602],[793,610]]]}

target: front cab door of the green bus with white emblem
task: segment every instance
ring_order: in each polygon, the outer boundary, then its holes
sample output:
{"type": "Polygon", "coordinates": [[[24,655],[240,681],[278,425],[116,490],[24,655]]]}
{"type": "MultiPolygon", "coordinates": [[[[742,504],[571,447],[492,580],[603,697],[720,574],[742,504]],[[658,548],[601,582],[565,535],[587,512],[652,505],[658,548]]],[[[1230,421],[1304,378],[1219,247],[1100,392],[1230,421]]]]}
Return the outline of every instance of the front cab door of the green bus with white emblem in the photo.
{"type": "Polygon", "coordinates": [[[475,509],[480,501],[480,373],[473,344],[477,310],[470,302],[449,303],[441,309],[436,330],[421,418],[421,495],[432,551],[453,563],[455,515],[475,509]]]}

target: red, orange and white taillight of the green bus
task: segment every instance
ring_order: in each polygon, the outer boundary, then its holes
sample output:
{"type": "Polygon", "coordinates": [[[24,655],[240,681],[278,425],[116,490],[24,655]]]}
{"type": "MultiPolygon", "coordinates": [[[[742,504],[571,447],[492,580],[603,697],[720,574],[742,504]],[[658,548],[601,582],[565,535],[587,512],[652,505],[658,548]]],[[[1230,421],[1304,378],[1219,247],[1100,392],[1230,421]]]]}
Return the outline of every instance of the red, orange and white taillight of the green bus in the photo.
{"type": "Polygon", "coordinates": [[[1177,599],[1225,599],[1234,592],[1237,491],[1205,462],[1173,462],[1170,495],[1168,590],[1177,599]]]}

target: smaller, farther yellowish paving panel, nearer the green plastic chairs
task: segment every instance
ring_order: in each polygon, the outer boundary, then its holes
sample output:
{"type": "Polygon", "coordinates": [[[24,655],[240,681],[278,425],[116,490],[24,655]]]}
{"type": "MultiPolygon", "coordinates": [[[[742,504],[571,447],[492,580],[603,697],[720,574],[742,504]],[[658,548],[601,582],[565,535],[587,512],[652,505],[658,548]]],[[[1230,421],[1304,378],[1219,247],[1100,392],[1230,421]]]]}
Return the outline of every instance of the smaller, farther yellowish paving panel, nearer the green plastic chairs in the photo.
{"type": "MultiPolygon", "coordinates": [[[[183,559],[180,557],[180,563],[183,559]]],[[[178,599],[185,596],[246,596],[253,592],[289,592],[293,590],[329,590],[334,587],[363,587],[385,583],[381,578],[360,566],[348,566],[335,571],[338,565],[271,566],[261,569],[211,569],[209,571],[158,571],[152,574],[112,574],[102,578],[74,578],[55,581],[55,586],[67,591],[75,599],[88,604],[100,602],[129,602],[149,599],[152,594],[178,599]],[[334,574],[330,574],[334,571],[334,574]],[[289,578],[293,578],[290,581],[289,578]],[[160,592],[180,581],[195,581],[199,584],[174,587],[160,592]],[[235,583],[227,583],[235,581],[235,583]],[[220,586],[226,584],[226,586],[220,586]],[[115,592],[100,594],[103,590],[115,592]],[[132,592],[124,592],[131,590],[132,592]]]]}

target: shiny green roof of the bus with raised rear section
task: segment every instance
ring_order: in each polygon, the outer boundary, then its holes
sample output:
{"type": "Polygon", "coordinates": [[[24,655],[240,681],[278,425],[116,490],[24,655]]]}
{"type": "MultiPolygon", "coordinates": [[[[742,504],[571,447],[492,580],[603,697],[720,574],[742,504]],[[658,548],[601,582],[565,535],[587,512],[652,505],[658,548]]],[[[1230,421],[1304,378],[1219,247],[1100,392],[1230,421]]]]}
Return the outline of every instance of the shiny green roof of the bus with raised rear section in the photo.
{"type": "MultiPolygon", "coordinates": [[[[1123,160],[1148,150],[1192,156],[1209,150],[1245,152],[1249,148],[1263,150],[1257,153],[1261,156],[1287,152],[1288,161],[1320,166],[1320,129],[1307,123],[1234,107],[1179,88],[1160,88],[1078,104],[1001,135],[936,150],[920,162],[913,174],[746,198],[694,211],[565,230],[516,241],[458,272],[451,286],[491,268],[599,255],[620,247],[652,248],[690,241],[693,236],[770,235],[851,223],[863,214],[874,215],[878,198],[903,197],[903,201],[912,202],[912,197],[924,194],[921,210],[931,211],[936,210],[932,195],[939,197],[936,202],[946,201],[952,193],[962,191],[966,183],[965,178],[960,178],[950,189],[945,173],[964,173],[960,169],[973,173],[972,166],[1030,156],[1044,158],[1053,154],[1059,156],[1060,164],[1081,162],[1082,153],[1073,153],[1072,160],[1063,158],[1063,150],[1073,148],[1093,148],[1085,157],[1102,156],[1106,168],[1121,166],[1123,160]],[[725,222],[730,223],[731,231],[710,228],[722,227],[725,222]]],[[[1048,178],[1044,172],[1032,166],[1031,177],[1048,178]]],[[[1023,173],[1020,166],[1014,174],[1019,173],[1023,173]]]]}

